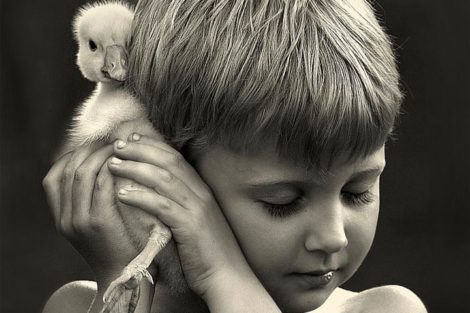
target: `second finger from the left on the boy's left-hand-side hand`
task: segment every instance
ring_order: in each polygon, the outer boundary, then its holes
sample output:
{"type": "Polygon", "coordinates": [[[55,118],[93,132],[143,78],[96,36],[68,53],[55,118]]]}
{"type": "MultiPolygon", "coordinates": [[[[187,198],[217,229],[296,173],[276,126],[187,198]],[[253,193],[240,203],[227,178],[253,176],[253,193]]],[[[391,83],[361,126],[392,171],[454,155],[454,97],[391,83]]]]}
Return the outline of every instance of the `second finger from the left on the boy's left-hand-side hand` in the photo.
{"type": "Polygon", "coordinates": [[[60,192],[60,231],[71,236],[74,233],[72,224],[72,188],[75,180],[75,172],[82,162],[94,151],[94,147],[83,146],[76,149],[62,174],[60,192]]]}

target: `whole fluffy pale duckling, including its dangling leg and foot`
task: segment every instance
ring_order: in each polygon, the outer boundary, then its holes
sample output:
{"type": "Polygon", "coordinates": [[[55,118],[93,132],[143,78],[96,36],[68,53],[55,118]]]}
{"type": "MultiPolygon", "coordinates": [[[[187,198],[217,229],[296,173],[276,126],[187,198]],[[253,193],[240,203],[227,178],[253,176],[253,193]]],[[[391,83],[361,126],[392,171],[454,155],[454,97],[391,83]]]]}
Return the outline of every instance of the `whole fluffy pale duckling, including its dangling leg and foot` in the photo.
{"type": "MultiPolygon", "coordinates": [[[[96,82],[92,95],[73,116],[62,153],[96,142],[112,142],[138,132],[159,137],[147,119],[145,107],[127,91],[123,82],[127,72],[127,44],[133,19],[131,7],[120,1],[101,1],[80,9],[73,22],[78,43],[77,65],[85,78],[96,82]]],[[[115,190],[133,181],[118,178],[115,190]]],[[[169,228],[142,210],[116,201],[123,218],[139,220],[148,229],[149,239],[121,275],[106,290],[102,312],[134,312],[143,278],[153,284],[147,268],[171,239],[169,228]]]]}

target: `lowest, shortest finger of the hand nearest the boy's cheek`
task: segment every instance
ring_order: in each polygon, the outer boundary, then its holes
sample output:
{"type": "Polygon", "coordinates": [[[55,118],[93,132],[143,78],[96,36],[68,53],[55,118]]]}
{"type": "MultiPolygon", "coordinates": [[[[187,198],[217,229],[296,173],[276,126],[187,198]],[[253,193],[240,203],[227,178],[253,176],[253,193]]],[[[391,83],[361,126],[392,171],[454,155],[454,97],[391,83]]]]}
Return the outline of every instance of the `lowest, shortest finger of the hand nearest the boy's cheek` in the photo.
{"type": "Polygon", "coordinates": [[[152,190],[124,187],[119,189],[118,199],[124,204],[138,207],[157,216],[170,228],[181,227],[185,220],[186,210],[178,203],[157,194],[152,190]]]}

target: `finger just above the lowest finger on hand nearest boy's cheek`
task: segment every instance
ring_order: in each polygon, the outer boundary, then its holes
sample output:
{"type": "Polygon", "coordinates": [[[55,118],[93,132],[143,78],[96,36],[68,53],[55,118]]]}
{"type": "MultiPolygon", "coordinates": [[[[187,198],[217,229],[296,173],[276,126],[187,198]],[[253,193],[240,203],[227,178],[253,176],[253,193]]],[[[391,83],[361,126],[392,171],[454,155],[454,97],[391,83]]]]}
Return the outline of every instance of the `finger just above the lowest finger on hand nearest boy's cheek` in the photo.
{"type": "Polygon", "coordinates": [[[185,208],[199,204],[200,199],[178,177],[172,173],[148,164],[121,160],[113,157],[108,167],[114,175],[134,180],[144,186],[152,188],[185,208]]]}

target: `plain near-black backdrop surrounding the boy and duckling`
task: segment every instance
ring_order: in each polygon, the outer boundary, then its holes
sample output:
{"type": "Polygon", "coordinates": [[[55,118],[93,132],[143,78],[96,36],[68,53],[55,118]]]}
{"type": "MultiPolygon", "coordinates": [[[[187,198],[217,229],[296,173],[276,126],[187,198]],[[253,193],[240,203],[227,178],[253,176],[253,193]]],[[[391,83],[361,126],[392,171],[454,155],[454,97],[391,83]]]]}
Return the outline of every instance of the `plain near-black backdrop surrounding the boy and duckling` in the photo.
{"type": "MultiPolygon", "coordinates": [[[[0,312],[38,312],[91,273],[55,233],[41,187],[72,109],[93,88],[74,65],[84,1],[0,0],[0,312]]],[[[469,312],[470,2],[381,0],[407,97],[388,145],[374,246],[346,287],[399,284],[430,312],[469,312]]]]}

